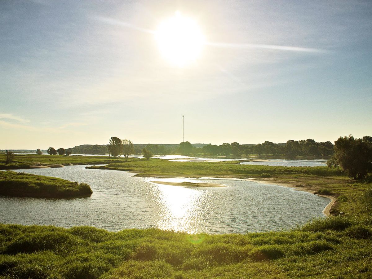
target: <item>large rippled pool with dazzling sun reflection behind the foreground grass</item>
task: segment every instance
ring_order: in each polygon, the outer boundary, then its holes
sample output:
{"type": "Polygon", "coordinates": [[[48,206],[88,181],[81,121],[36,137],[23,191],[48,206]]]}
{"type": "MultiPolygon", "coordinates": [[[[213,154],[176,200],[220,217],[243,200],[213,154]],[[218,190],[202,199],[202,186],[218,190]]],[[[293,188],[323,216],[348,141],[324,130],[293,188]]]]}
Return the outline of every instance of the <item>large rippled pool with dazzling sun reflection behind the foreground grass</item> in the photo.
{"type": "Polygon", "coordinates": [[[88,183],[93,195],[76,199],[0,196],[0,222],[66,228],[90,225],[109,231],[157,227],[189,233],[245,233],[293,228],[313,217],[324,217],[322,211],[329,202],[307,192],[253,181],[176,180],[228,186],[192,188],[155,184],[154,178],[133,177],[124,171],[84,167],[19,170],[88,183]]]}

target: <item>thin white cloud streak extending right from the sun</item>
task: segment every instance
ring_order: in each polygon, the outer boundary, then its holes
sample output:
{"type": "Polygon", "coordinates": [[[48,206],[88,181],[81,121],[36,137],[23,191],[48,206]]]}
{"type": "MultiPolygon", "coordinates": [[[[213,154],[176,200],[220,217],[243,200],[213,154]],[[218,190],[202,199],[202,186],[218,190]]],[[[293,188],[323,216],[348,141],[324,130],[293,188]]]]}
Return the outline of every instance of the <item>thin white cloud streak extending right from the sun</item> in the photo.
{"type": "Polygon", "coordinates": [[[263,48],[263,49],[274,49],[274,50],[283,50],[283,51],[298,51],[298,52],[327,52],[324,49],[317,48],[302,48],[302,47],[289,47],[284,45],[263,45],[263,44],[230,44],[230,43],[213,43],[207,42],[206,45],[211,47],[219,48],[263,48]]]}

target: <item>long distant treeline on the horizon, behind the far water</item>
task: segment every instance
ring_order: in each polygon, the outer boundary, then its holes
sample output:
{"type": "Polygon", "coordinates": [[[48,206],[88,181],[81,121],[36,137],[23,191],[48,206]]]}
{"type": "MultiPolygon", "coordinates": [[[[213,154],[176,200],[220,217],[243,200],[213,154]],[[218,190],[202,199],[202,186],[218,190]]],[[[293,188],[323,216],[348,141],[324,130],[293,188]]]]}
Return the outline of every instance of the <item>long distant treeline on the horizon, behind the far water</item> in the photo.
{"type": "MultiPolygon", "coordinates": [[[[307,139],[286,143],[273,143],[265,141],[262,144],[239,144],[238,142],[213,144],[134,144],[134,154],[142,154],[143,148],[155,155],[286,155],[286,156],[331,156],[333,144],[330,141],[316,142],[307,139]],[[188,146],[187,146],[187,145],[188,146]]],[[[73,148],[67,148],[73,154],[108,154],[108,145],[84,144],[73,148]]]]}

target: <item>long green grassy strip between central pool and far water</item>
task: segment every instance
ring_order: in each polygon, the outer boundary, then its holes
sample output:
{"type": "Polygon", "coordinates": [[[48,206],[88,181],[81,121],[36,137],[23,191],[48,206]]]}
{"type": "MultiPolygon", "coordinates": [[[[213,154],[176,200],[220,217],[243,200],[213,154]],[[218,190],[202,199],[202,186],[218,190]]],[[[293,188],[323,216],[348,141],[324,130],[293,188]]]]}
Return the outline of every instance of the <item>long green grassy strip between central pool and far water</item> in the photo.
{"type": "Polygon", "coordinates": [[[96,169],[124,170],[138,173],[138,176],[233,176],[259,177],[263,173],[273,176],[299,174],[317,176],[341,176],[339,169],[329,167],[277,167],[242,165],[239,161],[225,162],[172,162],[161,159],[129,159],[124,163],[112,163],[96,169]]]}

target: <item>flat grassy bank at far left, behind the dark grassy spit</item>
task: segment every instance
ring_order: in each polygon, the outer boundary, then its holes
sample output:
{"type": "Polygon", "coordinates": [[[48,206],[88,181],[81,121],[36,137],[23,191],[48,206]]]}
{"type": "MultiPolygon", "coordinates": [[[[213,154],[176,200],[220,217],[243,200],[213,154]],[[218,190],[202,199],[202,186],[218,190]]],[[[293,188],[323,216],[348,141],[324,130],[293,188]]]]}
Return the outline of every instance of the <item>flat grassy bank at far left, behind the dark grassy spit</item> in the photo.
{"type": "Polygon", "coordinates": [[[9,163],[3,163],[5,161],[5,155],[0,154],[0,170],[16,170],[16,169],[29,169],[31,166],[38,164],[42,165],[53,165],[61,164],[68,166],[71,164],[76,165],[91,165],[91,164],[109,164],[109,163],[120,163],[125,162],[125,158],[114,158],[104,156],[81,156],[81,155],[37,155],[37,154],[25,154],[15,155],[15,159],[9,163]]]}

